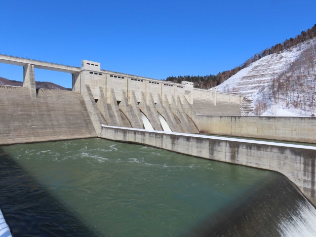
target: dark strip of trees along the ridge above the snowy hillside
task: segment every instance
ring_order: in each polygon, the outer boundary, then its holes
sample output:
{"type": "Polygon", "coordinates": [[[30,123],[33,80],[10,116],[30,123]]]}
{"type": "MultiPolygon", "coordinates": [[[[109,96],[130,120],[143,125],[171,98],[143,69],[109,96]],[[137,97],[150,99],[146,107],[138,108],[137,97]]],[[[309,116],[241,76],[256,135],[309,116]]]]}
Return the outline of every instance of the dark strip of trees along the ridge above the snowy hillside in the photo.
{"type": "Polygon", "coordinates": [[[241,69],[244,69],[249,64],[256,62],[262,57],[280,52],[284,49],[289,49],[292,46],[295,46],[301,42],[305,42],[306,40],[310,40],[316,37],[316,24],[307,31],[302,31],[302,33],[296,36],[294,39],[290,38],[289,40],[285,40],[282,43],[278,43],[271,48],[267,48],[262,50],[260,53],[255,54],[251,58],[249,58],[246,62],[244,62],[241,66],[238,66],[232,70],[224,71],[218,73],[217,75],[206,75],[206,76],[177,76],[177,77],[167,77],[165,80],[173,81],[177,83],[181,83],[182,80],[194,82],[194,87],[201,89],[209,89],[211,87],[217,86],[223,83],[225,80],[229,79],[241,69]]]}

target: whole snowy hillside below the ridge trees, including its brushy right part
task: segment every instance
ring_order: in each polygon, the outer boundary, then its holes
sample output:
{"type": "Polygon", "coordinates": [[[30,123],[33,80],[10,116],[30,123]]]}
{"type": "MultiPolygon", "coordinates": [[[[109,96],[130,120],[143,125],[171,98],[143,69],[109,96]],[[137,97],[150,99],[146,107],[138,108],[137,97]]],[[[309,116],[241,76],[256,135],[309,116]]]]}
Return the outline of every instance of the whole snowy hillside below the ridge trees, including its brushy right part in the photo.
{"type": "Polygon", "coordinates": [[[310,62],[314,63],[312,65],[312,71],[314,70],[315,74],[315,48],[316,38],[300,43],[288,50],[263,57],[218,85],[217,90],[244,95],[252,99],[253,107],[255,108],[254,115],[310,116],[315,113],[315,103],[313,104],[314,97],[313,95],[310,96],[310,94],[316,93],[316,78],[313,79],[313,77],[311,78],[310,76],[311,67],[305,67],[304,65],[307,63],[305,59],[308,57],[307,55],[312,55],[314,58],[312,60],[310,59],[310,62]],[[310,51],[313,51],[314,54],[307,54],[307,52],[310,51]],[[296,71],[293,72],[293,65],[299,65],[300,67],[296,67],[296,71]],[[308,87],[308,89],[294,88],[293,84],[296,83],[298,76],[302,79],[300,80],[300,88],[308,87]],[[280,90],[279,87],[283,88],[284,84],[286,84],[287,87],[284,88],[287,90],[291,89],[292,93],[277,91],[276,95],[276,84],[278,90],[280,90]],[[312,88],[313,86],[314,89],[312,88]],[[307,98],[307,95],[304,95],[304,93],[307,93],[306,91],[309,93],[309,101],[304,101],[307,98]],[[302,106],[302,104],[304,106],[302,106]]]}

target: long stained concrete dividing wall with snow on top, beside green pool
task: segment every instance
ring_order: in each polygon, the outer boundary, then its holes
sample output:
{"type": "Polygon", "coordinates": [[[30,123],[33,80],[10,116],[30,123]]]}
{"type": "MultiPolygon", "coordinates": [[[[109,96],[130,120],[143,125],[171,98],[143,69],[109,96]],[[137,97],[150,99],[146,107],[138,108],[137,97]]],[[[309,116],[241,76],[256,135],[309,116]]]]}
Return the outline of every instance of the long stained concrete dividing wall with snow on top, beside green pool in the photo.
{"type": "Polygon", "coordinates": [[[103,126],[101,137],[280,172],[316,204],[316,147],[103,126]],[[284,146],[285,145],[285,146],[284,146]]]}

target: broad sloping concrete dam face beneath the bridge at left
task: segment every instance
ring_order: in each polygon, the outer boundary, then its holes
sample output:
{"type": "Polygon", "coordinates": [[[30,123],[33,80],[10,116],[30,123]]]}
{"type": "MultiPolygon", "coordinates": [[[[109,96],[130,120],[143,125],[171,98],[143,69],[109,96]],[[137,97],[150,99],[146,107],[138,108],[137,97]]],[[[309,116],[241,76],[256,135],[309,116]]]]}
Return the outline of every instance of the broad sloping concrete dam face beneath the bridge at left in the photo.
{"type": "Polygon", "coordinates": [[[31,99],[26,87],[0,86],[0,144],[95,137],[81,95],[40,89],[31,99]]]}

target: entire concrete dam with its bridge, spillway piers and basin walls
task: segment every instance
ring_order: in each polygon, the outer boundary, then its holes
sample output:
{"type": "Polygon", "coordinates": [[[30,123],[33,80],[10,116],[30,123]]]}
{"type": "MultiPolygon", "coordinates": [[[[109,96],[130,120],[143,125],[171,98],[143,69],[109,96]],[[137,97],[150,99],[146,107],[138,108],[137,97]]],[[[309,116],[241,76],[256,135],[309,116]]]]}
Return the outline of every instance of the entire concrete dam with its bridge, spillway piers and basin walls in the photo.
{"type": "Polygon", "coordinates": [[[23,87],[0,85],[0,145],[101,137],[280,172],[316,203],[316,118],[241,116],[242,96],[0,54],[23,67],[23,87]],[[72,74],[72,91],[37,89],[35,68],[72,74]]]}

